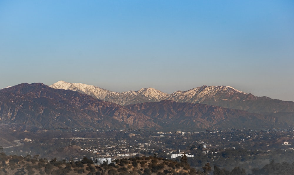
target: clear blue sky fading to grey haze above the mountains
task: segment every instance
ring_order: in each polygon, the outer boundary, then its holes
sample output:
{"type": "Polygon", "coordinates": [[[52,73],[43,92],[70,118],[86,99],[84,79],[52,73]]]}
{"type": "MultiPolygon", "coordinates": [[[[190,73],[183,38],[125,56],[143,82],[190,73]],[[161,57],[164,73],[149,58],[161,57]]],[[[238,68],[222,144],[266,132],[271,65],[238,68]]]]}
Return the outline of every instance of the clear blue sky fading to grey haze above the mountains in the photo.
{"type": "Polygon", "coordinates": [[[0,88],[59,80],[294,101],[294,1],[0,1],[0,88]]]}

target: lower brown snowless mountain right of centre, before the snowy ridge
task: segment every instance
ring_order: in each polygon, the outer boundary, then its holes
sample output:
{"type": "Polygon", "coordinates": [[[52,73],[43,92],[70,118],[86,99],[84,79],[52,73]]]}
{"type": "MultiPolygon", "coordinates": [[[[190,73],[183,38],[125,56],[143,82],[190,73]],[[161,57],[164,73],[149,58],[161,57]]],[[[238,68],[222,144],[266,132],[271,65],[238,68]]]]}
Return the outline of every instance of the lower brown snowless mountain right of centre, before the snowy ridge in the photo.
{"type": "Polygon", "coordinates": [[[279,121],[279,117],[271,115],[250,113],[212,105],[179,103],[169,100],[127,105],[126,107],[152,118],[156,124],[161,125],[163,128],[199,130],[203,128],[264,129],[294,126],[293,122],[284,125],[284,120],[279,121]]]}

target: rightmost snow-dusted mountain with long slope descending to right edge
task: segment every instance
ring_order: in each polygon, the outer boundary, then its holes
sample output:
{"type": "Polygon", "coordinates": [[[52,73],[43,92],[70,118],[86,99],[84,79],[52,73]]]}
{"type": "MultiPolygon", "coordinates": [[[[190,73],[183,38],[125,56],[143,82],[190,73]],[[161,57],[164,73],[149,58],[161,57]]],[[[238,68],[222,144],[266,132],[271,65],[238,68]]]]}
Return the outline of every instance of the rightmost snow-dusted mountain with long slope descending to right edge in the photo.
{"type": "Polygon", "coordinates": [[[294,102],[273,100],[269,97],[256,97],[230,86],[201,86],[187,91],[177,91],[167,100],[188,103],[202,103],[248,112],[294,112],[294,102]]]}

